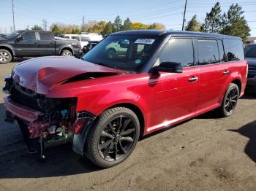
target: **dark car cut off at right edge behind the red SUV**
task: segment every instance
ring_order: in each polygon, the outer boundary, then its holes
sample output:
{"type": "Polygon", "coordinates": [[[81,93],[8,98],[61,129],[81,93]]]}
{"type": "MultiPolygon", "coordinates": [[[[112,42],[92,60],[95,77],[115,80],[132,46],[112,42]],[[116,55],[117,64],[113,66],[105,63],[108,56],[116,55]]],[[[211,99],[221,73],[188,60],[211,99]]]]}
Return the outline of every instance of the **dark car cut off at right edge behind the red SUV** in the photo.
{"type": "Polygon", "coordinates": [[[247,45],[244,48],[244,56],[248,63],[246,92],[256,93],[256,44],[247,45]]]}

